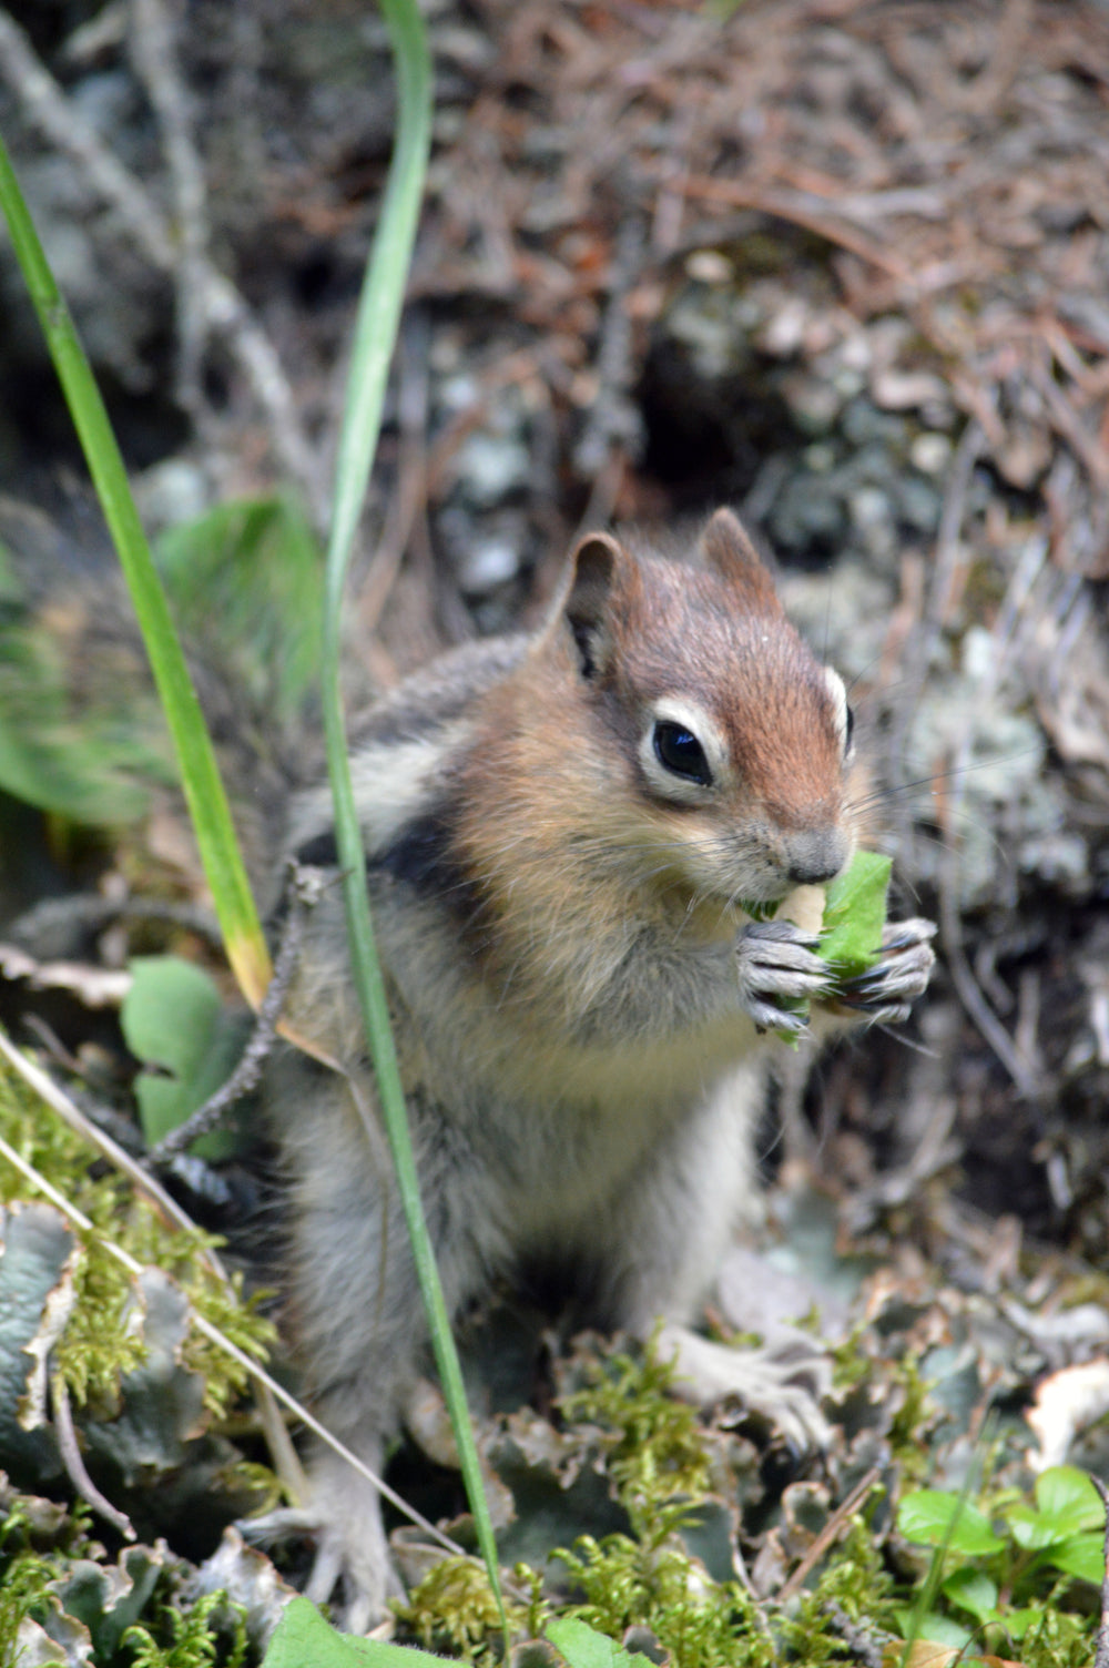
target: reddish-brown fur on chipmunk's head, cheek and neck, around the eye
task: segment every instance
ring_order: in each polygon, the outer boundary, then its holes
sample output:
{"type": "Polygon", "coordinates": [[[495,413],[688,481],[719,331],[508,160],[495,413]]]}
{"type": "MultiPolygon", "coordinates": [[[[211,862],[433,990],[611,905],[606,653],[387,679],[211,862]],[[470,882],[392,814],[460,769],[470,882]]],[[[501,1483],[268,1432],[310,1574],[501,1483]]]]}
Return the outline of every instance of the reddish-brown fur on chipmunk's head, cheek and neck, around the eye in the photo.
{"type": "Polygon", "coordinates": [[[457,772],[459,856],[497,922],[509,999],[549,1002],[564,969],[579,981],[562,991],[572,1011],[644,911],[687,917],[692,931],[704,917],[719,926],[722,906],[745,896],[742,857],[714,889],[699,844],[737,827],[769,847],[822,827],[851,839],[822,667],[732,517],[714,517],[699,555],[677,565],[610,537],[584,540],[564,609],[600,637],[595,679],[582,679],[560,609],[480,706],[457,772]],[[715,717],[735,762],[729,794],[704,812],[652,799],[637,769],[640,714],[670,691],[715,717]],[[539,966],[529,944],[540,934],[539,966]]]}

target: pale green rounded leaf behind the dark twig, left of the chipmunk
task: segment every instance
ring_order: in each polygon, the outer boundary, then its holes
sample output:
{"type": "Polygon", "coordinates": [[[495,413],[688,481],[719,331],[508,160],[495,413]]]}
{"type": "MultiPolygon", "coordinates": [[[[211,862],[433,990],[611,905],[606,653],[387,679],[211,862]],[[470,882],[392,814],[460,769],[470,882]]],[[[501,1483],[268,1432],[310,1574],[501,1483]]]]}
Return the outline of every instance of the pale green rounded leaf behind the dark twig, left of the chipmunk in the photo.
{"type": "MultiPolygon", "coordinates": [[[[232,1073],[238,1026],[223,1011],[220,994],[200,967],[180,956],[137,956],[133,984],[123,997],[123,1039],[148,1071],[135,1081],[147,1143],[177,1129],[232,1073]],[[168,1074],[168,1076],[167,1076],[168,1074]]],[[[233,1148],[225,1131],[195,1144],[203,1158],[225,1158],[233,1148]]]]}

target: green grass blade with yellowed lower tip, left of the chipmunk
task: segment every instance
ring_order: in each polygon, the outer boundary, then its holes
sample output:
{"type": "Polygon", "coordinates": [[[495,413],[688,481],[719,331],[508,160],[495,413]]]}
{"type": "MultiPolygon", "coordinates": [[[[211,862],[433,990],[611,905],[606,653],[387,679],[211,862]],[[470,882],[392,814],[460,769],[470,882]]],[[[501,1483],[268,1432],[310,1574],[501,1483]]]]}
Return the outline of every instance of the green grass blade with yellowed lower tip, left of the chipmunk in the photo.
{"type": "Polygon", "coordinates": [[[138,520],[108,414],[70,312],[53,280],[3,140],[0,140],[0,207],[7,217],[15,255],[62,382],[105,520],[123,564],[153,679],[177,749],[185,799],[197,831],[203,871],[212,887],[227,957],[243,994],[257,1006],[268,984],[270,957],[212,742],[185,657],[177,642],[162,582],[150,559],[150,547],[138,520]]]}

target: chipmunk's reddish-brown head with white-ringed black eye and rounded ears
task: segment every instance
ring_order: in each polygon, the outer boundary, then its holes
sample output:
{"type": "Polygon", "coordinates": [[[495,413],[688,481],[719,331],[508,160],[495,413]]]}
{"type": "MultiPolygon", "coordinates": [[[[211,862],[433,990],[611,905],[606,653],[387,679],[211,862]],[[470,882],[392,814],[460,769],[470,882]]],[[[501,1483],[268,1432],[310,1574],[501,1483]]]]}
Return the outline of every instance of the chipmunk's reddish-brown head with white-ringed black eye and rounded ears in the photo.
{"type": "Polygon", "coordinates": [[[559,636],[590,752],[612,762],[609,839],[644,874],[692,899],[772,902],[841,872],[854,846],[844,686],[729,510],[692,560],[585,537],[559,636]]]}

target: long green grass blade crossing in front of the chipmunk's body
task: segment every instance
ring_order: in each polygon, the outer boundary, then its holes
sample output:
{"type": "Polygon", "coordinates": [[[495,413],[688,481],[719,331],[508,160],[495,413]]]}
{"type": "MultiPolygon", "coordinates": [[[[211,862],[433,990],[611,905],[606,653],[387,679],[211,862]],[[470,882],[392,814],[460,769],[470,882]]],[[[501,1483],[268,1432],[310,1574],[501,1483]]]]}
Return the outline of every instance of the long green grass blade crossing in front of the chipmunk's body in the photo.
{"type": "Polygon", "coordinates": [[[389,365],[397,340],[404,289],[424,195],[432,123],[430,60],[420,13],[414,0],[380,0],[380,10],[385,15],[394,48],[397,138],[359,302],[350,382],[335,469],[324,620],[327,764],[335,801],[335,839],[344,869],[350,957],[362,1016],[374,1051],[382,1118],[394,1154],[397,1186],[409,1224],[420,1291],[424,1293],[424,1304],[432,1331],[435,1361],[459,1444],[462,1476],[474,1513],[477,1538],[504,1618],[497,1573],[497,1545],[465,1404],[462,1371],[424,1218],[404,1089],[400,1086],[397,1054],[389,1026],[385,984],[374,944],[365,884],[365,852],[362,849],[362,831],[354,802],[340,697],[340,610],[344,584],[377,450],[389,365]]]}

